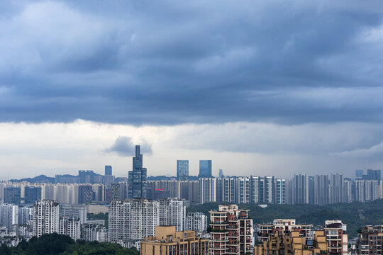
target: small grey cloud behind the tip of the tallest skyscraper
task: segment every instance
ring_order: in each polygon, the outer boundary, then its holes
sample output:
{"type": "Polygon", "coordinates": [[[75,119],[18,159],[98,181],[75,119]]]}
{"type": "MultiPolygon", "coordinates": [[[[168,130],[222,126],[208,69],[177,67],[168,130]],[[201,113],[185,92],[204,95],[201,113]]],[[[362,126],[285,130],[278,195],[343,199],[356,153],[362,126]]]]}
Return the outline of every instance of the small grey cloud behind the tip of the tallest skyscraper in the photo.
{"type": "MultiPolygon", "coordinates": [[[[142,138],[138,145],[140,145],[141,153],[148,155],[152,154],[152,145],[142,138]]],[[[135,145],[133,144],[131,137],[119,136],[111,147],[104,149],[104,152],[116,153],[121,157],[131,157],[135,154],[135,145]]]]}

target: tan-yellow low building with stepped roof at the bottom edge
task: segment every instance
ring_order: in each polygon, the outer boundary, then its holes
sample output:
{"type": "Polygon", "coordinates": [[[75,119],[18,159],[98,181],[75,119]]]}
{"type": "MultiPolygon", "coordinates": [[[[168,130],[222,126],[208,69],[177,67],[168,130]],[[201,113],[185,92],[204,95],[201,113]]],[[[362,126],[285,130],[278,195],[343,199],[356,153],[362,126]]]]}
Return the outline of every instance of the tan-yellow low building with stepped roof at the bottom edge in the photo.
{"type": "Polygon", "coordinates": [[[155,237],[140,242],[141,255],[208,255],[209,239],[196,237],[194,231],[177,231],[175,226],[155,227],[155,237]]]}

